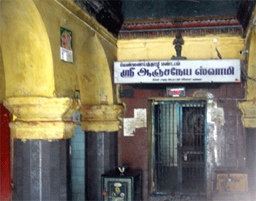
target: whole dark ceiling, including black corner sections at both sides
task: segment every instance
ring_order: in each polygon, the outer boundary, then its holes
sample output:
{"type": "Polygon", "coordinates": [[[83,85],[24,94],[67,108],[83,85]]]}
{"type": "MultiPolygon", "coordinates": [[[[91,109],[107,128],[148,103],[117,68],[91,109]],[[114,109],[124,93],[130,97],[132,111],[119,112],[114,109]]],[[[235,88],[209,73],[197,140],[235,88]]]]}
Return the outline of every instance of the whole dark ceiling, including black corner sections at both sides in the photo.
{"type": "Polygon", "coordinates": [[[96,18],[108,31],[118,35],[124,23],[165,20],[208,20],[238,18],[246,28],[253,0],[73,0],[96,18]]]}

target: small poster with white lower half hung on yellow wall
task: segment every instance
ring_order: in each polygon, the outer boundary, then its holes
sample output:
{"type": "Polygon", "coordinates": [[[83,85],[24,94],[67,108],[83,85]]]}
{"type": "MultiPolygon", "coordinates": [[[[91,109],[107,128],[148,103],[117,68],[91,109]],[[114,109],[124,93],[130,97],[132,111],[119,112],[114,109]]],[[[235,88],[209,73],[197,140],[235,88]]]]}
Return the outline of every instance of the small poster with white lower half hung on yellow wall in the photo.
{"type": "Polygon", "coordinates": [[[61,27],[61,60],[72,63],[72,31],[61,27]]]}

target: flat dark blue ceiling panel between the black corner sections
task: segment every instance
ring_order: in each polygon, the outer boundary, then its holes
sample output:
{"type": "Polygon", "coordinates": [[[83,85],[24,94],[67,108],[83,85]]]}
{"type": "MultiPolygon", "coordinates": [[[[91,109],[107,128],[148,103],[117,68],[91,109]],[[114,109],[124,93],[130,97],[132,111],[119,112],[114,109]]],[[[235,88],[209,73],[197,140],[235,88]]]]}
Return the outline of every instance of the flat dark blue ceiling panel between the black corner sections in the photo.
{"type": "Polygon", "coordinates": [[[236,16],[241,0],[123,1],[124,20],[236,16]]]}

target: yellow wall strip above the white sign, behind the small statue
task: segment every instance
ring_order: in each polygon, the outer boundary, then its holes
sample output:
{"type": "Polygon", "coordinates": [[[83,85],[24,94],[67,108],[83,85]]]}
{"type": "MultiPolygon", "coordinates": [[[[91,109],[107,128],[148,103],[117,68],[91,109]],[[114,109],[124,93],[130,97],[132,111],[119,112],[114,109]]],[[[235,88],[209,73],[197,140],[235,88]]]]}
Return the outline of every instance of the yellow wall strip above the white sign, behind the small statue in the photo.
{"type": "MultiPolygon", "coordinates": [[[[244,50],[244,39],[241,36],[202,36],[183,37],[181,56],[187,60],[219,59],[217,50],[222,59],[238,58],[239,50],[244,50]]],[[[174,38],[118,40],[118,61],[124,60],[170,60],[176,56],[173,45],[174,38]]]]}

